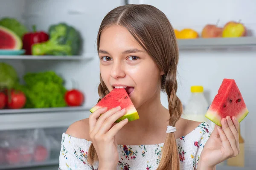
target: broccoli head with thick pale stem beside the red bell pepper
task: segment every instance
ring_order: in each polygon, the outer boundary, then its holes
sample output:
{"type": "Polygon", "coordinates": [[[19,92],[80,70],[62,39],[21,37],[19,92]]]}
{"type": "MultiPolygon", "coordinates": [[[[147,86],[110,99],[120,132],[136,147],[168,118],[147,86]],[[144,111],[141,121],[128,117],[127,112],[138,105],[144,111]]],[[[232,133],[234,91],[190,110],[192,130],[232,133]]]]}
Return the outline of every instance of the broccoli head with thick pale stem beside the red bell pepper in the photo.
{"type": "Polygon", "coordinates": [[[32,55],[78,55],[81,35],[74,27],[59,23],[49,27],[49,40],[32,45],[32,55]]]}

